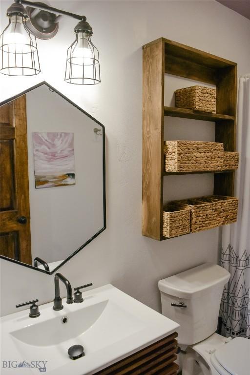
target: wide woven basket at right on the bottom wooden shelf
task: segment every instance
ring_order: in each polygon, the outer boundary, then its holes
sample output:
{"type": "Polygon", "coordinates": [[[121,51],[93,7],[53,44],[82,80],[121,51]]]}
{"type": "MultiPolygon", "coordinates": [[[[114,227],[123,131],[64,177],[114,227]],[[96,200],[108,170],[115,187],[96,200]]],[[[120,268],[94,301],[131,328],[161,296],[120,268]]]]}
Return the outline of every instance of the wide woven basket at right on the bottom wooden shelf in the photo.
{"type": "Polygon", "coordinates": [[[238,199],[220,195],[191,198],[173,202],[191,209],[191,232],[220,227],[237,220],[238,199]]]}

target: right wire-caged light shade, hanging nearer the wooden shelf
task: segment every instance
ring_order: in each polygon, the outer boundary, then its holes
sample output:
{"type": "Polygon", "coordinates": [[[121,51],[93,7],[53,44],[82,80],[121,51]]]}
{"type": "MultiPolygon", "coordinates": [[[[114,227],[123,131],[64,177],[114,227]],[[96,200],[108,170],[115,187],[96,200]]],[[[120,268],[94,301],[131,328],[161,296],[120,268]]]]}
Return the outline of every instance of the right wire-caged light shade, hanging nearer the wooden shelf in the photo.
{"type": "Polygon", "coordinates": [[[98,49],[91,42],[92,28],[86,21],[75,27],[76,39],[67,50],[65,81],[74,84],[100,83],[98,49]]]}

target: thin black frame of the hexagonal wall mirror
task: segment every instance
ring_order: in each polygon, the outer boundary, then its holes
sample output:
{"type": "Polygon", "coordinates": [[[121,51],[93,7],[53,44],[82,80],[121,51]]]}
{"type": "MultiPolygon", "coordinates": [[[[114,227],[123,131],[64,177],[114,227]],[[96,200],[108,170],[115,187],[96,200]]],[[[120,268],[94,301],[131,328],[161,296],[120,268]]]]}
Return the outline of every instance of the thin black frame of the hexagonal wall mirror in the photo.
{"type": "Polygon", "coordinates": [[[34,266],[31,266],[29,264],[26,264],[26,263],[22,263],[20,262],[19,260],[15,260],[15,259],[11,259],[11,258],[8,258],[7,256],[4,256],[4,255],[0,255],[0,259],[4,259],[4,260],[7,260],[9,262],[13,262],[13,263],[16,263],[16,264],[19,264],[21,266],[24,266],[24,267],[27,267],[27,268],[30,268],[32,270],[36,270],[36,271],[40,271],[40,272],[43,272],[43,273],[46,273],[47,275],[52,275],[54,272],[58,271],[60,269],[60,267],[62,267],[65,263],[67,263],[74,255],[76,255],[80,250],[82,250],[85,246],[87,246],[91,241],[93,241],[99,234],[101,234],[105,229],[106,229],[106,185],[105,185],[105,127],[103,124],[101,124],[98,120],[96,120],[93,116],[91,116],[89,113],[87,113],[86,111],[84,111],[82,108],[80,108],[77,104],[73,103],[70,99],[68,99],[66,96],[64,96],[60,91],[58,91],[57,89],[55,89],[54,87],[52,87],[49,83],[45,82],[45,81],[42,81],[41,83],[38,83],[30,88],[28,88],[27,90],[21,92],[20,94],[18,95],[15,95],[7,100],[4,100],[2,102],[0,102],[0,106],[1,105],[4,105],[4,104],[7,104],[9,102],[12,102],[13,100],[19,98],[20,96],[22,95],[25,95],[27,94],[28,92],[34,90],[35,88],[38,88],[40,86],[42,86],[43,84],[45,84],[50,90],[56,92],[58,95],[60,95],[63,99],[65,99],[68,103],[74,105],[75,108],[79,109],[81,112],[84,113],[84,115],[88,116],[91,120],[93,120],[96,124],[98,124],[99,126],[102,126],[102,135],[103,135],[103,207],[104,207],[104,226],[102,229],[100,229],[96,234],[94,234],[88,241],[86,241],[79,249],[75,250],[71,255],[69,255],[66,259],[64,259],[62,261],[62,263],[60,263],[60,265],[58,265],[53,271],[45,271],[43,269],[40,269],[40,268],[37,268],[37,267],[34,267],[34,266]]]}

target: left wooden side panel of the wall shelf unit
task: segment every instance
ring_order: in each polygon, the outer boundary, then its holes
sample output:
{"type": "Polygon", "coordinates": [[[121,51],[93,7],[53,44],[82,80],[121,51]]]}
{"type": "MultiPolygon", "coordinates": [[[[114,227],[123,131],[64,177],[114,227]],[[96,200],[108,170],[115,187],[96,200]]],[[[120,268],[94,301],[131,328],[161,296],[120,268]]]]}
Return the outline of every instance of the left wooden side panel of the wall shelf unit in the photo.
{"type": "Polygon", "coordinates": [[[163,227],[164,43],[143,49],[142,234],[160,240],[163,227]]]}

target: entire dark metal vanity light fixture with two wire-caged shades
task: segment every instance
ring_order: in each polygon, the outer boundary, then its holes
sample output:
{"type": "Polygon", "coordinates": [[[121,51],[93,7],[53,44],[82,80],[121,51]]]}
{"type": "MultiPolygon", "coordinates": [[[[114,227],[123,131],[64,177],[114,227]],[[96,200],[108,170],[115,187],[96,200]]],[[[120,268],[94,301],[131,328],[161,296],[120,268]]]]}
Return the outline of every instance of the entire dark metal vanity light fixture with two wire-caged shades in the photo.
{"type": "Polygon", "coordinates": [[[75,41],[67,50],[64,80],[75,84],[100,83],[99,52],[91,41],[92,27],[85,16],[52,8],[42,2],[15,0],[7,9],[9,24],[0,35],[0,73],[30,76],[40,73],[36,37],[51,39],[58,31],[62,16],[80,22],[75,41]],[[27,5],[24,8],[23,5],[27,5]]]}

